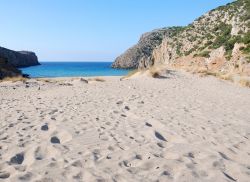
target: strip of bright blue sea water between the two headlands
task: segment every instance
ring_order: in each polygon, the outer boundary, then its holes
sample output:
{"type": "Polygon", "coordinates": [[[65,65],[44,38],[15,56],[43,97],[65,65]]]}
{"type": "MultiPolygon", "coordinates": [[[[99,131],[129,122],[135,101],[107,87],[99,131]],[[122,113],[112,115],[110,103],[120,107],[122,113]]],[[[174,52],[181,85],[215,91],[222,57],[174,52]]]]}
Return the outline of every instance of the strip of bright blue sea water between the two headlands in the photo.
{"type": "Polygon", "coordinates": [[[37,77],[122,76],[129,70],[112,69],[111,62],[41,62],[21,68],[24,74],[37,77]]]}

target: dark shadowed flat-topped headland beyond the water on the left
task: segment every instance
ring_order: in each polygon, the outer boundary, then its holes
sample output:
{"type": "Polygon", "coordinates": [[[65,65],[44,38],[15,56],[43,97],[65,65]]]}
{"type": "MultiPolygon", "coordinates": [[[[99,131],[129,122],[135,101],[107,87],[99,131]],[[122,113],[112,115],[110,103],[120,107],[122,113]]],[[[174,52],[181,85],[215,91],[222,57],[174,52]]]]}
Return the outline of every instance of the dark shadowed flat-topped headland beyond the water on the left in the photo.
{"type": "Polygon", "coordinates": [[[28,51],[12,51],[0,47],[0,57],[5,58],[9,65],[14,67],[27,67],[39,65],[37,56],[33,52],[28,51]]]}

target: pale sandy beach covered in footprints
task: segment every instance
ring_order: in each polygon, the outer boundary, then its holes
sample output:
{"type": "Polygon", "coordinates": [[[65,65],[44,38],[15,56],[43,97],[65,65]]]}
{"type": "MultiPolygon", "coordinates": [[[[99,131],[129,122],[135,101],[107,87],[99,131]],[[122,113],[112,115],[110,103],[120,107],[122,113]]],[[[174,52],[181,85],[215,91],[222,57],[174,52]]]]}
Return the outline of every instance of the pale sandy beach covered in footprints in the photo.
{"type": "Polygon", "coordinates": [[[104,79],[0,83],[0,181],[250,181],[249,88],[104,79]]]}

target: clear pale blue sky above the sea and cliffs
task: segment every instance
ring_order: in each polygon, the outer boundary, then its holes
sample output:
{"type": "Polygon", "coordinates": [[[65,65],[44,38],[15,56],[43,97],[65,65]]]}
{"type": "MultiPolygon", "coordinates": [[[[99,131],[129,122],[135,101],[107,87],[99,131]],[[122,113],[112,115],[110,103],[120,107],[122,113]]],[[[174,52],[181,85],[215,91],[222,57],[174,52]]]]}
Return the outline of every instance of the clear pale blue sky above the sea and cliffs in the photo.
{"type": "Polygon", "coordinates": [[[1,0],[0,46],[41,61],[113,61],[140,35],[232,0],[1,0]]]}

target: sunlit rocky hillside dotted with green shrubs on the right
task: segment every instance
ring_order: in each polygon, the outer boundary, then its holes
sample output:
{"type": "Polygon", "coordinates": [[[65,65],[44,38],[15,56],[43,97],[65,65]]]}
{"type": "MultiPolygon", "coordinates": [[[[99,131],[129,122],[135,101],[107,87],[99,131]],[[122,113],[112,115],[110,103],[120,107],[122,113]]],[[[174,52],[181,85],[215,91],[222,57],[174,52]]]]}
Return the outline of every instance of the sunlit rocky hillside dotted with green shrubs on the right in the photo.
{"type": "Polygon", "coordinates": [[[250,76],[250,0],[218,7],[185,27],[146,33],[112,67],[144,69],[162,64],[250,76]]]}

